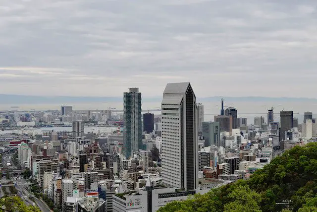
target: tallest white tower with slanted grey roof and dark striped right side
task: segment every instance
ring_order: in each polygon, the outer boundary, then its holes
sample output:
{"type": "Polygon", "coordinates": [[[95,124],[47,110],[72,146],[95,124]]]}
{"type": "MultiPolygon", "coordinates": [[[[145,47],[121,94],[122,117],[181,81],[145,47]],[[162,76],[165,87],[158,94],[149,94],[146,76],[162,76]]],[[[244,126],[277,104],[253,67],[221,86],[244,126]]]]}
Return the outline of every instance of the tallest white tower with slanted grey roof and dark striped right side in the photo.
{"type": "Polygon", "coordinates": [[[190,83],[168,83],[161,111],[163,182],[194,190],[198,186],[198,111],[190,83]]]}

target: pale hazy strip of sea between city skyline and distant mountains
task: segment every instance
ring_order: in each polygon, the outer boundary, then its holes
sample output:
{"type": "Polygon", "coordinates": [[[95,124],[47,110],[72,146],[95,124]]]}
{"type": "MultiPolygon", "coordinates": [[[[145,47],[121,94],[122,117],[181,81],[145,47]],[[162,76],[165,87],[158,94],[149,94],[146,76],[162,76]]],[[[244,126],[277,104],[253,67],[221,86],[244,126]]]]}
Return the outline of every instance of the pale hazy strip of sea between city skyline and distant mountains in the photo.
{"type": "MultiPolygon", "coordinates": [[[[205,121],[213,121],[213,116],[220,112],[220,99],[219,101],[202,102],[204,105],[205,121]]],[[[122,102],[108,102],[108,103],[56,103],[56,104],[0,104],[0,110],[60,110],[60,105],[72,105],[73,110],[106,110],[109,107],[122,110],[122,102]],[[18,106],[19,108],[11,108],[11,106],[18,106]]],[[[238,101],[230,102],[224,101],[224,106],[235,107],[238,111],[238,117],[248,118],[248,124],[254,122],[254,117],[264,116],[266,121],[267,109],[274,108],[275,121],[279,121],[279,112],[282,110],[294,111],[294,118],[299,118],[299,123],[303,122],[304,112],[310,111],[313,114],[317,114],[316,102],[300,102],[300,101],[288,101],[288,102],[259,102],[259,101],[238,101]],[[262,114],[257,114],[262,113],[262,114]]],[[[156,102],[142,102],[142,110],[160,109],[160,101],[156,102]]],[[[159,111],[153,112],[159,115],[159,111]]],[[[316,116],[315,116],[316,117],[316,116]]]]}

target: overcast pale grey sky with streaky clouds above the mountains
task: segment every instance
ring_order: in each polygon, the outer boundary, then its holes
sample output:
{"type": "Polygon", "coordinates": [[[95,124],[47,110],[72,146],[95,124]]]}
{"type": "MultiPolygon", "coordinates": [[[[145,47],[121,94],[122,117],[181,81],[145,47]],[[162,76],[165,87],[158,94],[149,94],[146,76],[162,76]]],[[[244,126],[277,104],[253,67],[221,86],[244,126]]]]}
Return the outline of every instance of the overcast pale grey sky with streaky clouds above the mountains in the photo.
{"type": "Polygon", "coordinates": [[[316,97],[317,0],[0,0],[0,93],[316,97]]]}

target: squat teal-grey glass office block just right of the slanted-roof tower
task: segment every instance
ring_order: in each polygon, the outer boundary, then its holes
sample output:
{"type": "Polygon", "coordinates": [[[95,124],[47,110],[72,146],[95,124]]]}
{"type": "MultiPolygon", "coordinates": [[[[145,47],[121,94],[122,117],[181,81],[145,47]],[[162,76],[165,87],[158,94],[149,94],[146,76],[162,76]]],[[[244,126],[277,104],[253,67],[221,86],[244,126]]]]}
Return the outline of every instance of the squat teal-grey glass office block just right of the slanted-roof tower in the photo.
{"type": "Polygon", "coordinates": [[[205,146],[220,146],[220,125],[218,122],[203,122],[202,135],[205,138],[205,146]]]}

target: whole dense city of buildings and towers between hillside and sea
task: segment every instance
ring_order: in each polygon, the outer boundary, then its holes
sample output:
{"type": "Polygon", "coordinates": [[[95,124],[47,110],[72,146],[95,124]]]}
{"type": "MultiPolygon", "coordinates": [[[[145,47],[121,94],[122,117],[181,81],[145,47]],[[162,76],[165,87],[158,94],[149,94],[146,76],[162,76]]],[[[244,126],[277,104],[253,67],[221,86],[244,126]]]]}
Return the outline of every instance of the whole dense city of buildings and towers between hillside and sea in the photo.
{"type": "Polygon", "coordinates": [[[250,124],[220,101],[207,121],[183,82],[166,85],[159,115],[143,113],[139,88],[124,92],[122,112],[2,111],[0,195],[19,195],[43,212],[156,212],[249,179],[286,149],[317,138],[311,112],[299,124],[293,111],[271,108],[250,124]]]}

